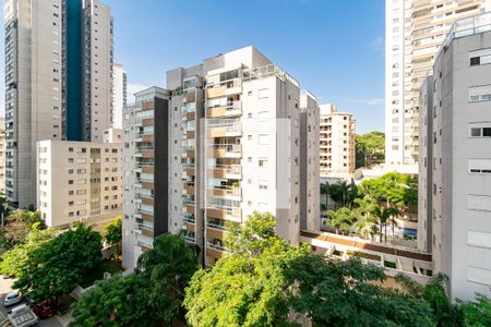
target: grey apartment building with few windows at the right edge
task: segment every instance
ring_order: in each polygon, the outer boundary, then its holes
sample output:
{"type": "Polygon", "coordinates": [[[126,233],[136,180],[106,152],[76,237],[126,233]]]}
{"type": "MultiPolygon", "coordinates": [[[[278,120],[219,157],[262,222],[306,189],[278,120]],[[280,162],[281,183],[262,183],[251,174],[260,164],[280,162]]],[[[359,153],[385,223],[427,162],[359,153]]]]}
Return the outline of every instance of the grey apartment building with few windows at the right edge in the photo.
{"type": "Polygon", "coordinates": [[[459,20],[420,97],[418,244],[451,298],[491,295],[491,13],[459,20]]]}

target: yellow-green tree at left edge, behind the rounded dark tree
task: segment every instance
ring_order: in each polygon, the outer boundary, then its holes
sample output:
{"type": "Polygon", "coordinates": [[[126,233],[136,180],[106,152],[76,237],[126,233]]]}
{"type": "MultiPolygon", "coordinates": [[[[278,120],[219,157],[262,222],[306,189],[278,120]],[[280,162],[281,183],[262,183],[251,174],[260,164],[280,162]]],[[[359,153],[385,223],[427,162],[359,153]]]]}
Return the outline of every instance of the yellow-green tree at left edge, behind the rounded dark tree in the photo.
{"type": "Polygon", "coordinates": [[[35,251],[47,242],[52,241],[58,231],[51,229],[33,231],[25,243],[21,243],[2,255],[0,274],[9,277],[17,277],[28,265],[28,258],[35,251]]]}

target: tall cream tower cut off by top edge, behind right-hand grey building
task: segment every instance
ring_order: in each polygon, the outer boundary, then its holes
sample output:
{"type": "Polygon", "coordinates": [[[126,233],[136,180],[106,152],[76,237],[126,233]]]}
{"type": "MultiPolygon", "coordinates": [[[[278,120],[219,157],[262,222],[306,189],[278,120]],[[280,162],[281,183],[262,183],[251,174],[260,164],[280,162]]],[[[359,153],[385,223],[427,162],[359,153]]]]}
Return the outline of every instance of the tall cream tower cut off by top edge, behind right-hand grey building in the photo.
{"type": "Polygon", "coordinates": [[[418,172],[419,90],[452,24],[491,0],[385,1],[385,162],[418,172]]]}

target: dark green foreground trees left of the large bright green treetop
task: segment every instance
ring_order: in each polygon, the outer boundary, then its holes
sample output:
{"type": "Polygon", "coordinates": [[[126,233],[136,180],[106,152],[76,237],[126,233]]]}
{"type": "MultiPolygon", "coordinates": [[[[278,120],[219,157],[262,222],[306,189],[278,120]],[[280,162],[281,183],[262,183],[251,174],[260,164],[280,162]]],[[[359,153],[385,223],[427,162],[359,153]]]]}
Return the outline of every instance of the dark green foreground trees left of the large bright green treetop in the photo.
{"type": "Polygon", "coordinates": [[[134,274],[96,282],[73,304],[70,326],[168,326],[181,313],[184,288],[199,268],[178,235],[160,235],[134,274]]]}

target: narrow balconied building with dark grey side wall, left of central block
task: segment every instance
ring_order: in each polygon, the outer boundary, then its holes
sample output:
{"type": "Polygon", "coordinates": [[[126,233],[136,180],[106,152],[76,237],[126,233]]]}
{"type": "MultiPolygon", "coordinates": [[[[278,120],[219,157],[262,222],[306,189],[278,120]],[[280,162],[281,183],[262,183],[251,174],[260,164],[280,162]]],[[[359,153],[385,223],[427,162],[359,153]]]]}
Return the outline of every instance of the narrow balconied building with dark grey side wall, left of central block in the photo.
{"type": "Polygon", "coordinates": [[[136,93],[123,118],[122,265],[132,268],[154,238],[169,231],[167,90],[136,93]]]}

